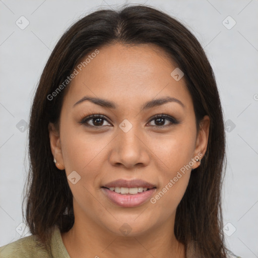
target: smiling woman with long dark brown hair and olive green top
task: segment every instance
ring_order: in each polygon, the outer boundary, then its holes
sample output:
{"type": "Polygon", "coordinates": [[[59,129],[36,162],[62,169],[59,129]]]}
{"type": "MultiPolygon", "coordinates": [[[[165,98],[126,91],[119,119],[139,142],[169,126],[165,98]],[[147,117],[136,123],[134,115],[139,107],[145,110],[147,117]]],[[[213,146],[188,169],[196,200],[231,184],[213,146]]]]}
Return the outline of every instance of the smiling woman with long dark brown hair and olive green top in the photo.
{"type": "Polygon", "coordinates": [[[215,78],[167,14],[100,10],[64,33],[34,97],[29,154],[32,235],[1,257],[232,257],[215,78]]]}

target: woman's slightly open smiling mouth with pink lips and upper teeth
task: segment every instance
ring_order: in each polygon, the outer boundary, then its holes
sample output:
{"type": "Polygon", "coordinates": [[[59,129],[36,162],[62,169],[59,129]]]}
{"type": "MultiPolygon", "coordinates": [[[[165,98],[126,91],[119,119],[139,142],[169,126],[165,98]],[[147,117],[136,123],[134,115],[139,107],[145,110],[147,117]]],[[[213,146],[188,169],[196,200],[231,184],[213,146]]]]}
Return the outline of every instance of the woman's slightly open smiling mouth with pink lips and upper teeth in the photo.
{"type": "Polygon", "coordinates": [[[143,180],[116,180],[101,187],[105,197],[113,204],[132,208],[146,203],[156,191],[154,184],[143,180]]]}

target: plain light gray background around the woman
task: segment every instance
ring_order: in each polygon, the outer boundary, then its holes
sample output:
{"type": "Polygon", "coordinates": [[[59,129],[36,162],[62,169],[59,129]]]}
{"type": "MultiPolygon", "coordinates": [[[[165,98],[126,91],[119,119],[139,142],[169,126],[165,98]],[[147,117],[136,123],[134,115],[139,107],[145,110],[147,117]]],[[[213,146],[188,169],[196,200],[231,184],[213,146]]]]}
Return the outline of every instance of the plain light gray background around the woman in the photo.
{"type": "Polygon", "coordinates": [[[29,121],[32,97],[51,50],[74,21],[100,7],[123,3],[146,3],[166,11],[182,21],[205,48],[230,126],[223,223],[225,232],[232,235],[226,235],[226,241],[236,254],[258,257],[258,0],[0,0],[0,246],[21,237],[16,228],[23,221],[28,130],[21,132],[18,122],[29,121]],[[16,25],[21,16],[29,21],[24,30],[16,25]],[[236,22],[231,29],[224,26],[233,25],[228,16],[236,22]]]}

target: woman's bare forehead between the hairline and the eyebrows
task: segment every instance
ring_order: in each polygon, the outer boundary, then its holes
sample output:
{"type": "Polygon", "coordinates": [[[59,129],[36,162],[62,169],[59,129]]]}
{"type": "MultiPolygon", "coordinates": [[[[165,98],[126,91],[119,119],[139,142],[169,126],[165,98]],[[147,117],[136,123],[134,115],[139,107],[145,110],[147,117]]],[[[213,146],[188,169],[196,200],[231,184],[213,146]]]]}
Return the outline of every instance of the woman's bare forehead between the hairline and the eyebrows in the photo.
{"type": "MultiPolygon", "coordinates": [[[[191,97],[184,79],[176,81],[171,72],[176,69],[173,60],[153,44],[113,44],[97,48],[98,54],[82,58],[87,64],[72,80],[64,102],[74,105],[87,96],[112,100],[118,107],[140,105],[150,100],[171,96],[192,108],[191,97]],[[94,56],[94,57],[93,57],[94,56]]],[[[80,64],[80,63],[79,63],[80,64]]]]}

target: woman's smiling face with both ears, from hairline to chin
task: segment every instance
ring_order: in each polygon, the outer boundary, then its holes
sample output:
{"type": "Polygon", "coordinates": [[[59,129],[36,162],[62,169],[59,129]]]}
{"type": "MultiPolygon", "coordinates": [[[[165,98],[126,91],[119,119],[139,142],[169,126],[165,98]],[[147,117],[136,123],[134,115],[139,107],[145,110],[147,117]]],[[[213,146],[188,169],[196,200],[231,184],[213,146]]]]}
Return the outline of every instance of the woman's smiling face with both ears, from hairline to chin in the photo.
{"type": "Polygon", "coordinates": [[[114,44],[98,50],[77,69],[58,130],[49,124],[75,222],[116,235],[126,227],[131,235],[162,226],[172,231],[191,169],[207,148],[209,117],[197,132],[184,78],[170,75],[176,66],[162,49],[114,44]]]}

